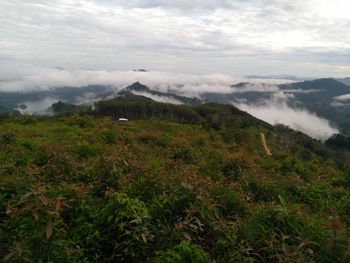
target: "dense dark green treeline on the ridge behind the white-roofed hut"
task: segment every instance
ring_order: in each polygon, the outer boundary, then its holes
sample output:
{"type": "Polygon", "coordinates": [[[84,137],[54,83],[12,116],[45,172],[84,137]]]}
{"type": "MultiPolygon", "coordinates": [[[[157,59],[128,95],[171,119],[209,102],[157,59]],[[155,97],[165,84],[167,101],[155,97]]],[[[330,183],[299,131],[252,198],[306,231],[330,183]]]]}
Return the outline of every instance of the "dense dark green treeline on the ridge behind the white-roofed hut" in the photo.
{"type": "Polygon", "coordinates": [[[94,113],[112,116],[114,120],[166,119],[181,123],[197,123],[205,127],[220,128],[271,127],[269,124],[240,111],[232,105],[206,103],[199,106],[173,105],[150,100],[113,99],[100,101],[94,113]]]}

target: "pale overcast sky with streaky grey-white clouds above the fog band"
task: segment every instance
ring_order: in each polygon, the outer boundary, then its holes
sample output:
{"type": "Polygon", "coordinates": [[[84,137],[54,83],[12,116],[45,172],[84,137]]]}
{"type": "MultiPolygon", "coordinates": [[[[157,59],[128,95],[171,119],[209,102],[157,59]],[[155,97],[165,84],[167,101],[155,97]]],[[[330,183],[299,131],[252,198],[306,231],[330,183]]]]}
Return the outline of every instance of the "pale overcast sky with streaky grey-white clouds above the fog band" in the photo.
{"type": "Polygon", "coordinates": [[[0,64],[350,76],[349,0],[1,0],[0,64]]]}

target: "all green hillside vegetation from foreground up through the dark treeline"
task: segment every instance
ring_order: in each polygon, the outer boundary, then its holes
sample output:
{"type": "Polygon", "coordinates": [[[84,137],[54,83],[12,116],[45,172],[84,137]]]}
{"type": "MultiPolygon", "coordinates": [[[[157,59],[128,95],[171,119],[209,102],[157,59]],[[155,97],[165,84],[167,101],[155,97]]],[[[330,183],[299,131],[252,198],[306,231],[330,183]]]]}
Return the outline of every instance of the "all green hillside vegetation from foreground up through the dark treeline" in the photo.
{"type": "Polygon", "coordinates": [[[95,115],[0,120],[2,261],[350,261],[345,149],[224,105],[95,115]]]}

